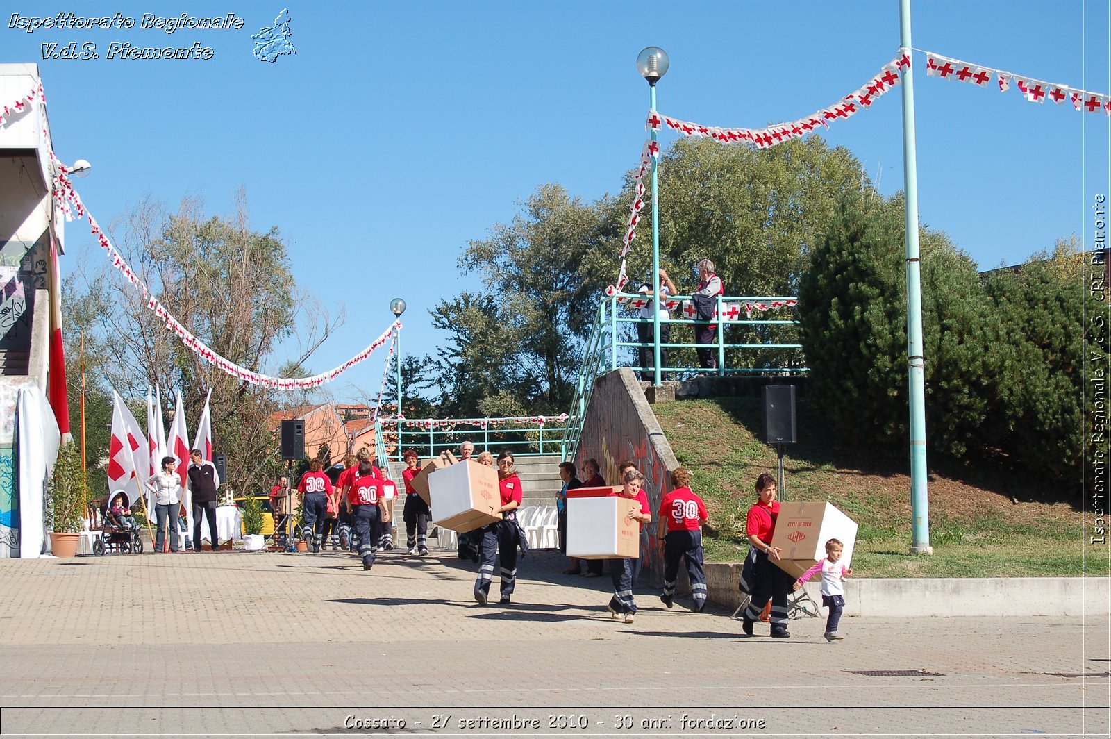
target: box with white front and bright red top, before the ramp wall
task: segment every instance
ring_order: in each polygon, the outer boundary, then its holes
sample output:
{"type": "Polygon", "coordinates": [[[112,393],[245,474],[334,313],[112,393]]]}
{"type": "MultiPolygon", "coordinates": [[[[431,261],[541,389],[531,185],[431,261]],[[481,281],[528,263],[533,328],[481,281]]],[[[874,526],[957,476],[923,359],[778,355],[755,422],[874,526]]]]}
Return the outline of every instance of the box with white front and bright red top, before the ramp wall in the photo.
{"type": "Polygon", "coordinates": [[[567,556],[580,559],[640,557],[640,523],[629,510],[640,510],[621,488],[579,488],[567,491],[567,556]]]}

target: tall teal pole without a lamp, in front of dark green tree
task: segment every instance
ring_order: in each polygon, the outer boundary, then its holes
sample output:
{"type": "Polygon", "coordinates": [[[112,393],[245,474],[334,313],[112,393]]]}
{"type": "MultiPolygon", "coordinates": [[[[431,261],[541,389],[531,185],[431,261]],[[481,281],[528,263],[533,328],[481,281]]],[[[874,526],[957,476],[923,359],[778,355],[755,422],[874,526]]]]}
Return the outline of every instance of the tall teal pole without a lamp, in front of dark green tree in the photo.
{"type": "MultiPolygon", "coordinates": [[[[899,39],[908,51],[910,0],[899,0],[899,39]]],[[[907,200],[907,371],[910,383],[910,503],[912,555],[931,555],[930,500],[925,466],[925,383],[922,346],[922,280],[918,248],[918,152],[914,149],[914,66],[902,74],[903,189],[907,200]]]]}

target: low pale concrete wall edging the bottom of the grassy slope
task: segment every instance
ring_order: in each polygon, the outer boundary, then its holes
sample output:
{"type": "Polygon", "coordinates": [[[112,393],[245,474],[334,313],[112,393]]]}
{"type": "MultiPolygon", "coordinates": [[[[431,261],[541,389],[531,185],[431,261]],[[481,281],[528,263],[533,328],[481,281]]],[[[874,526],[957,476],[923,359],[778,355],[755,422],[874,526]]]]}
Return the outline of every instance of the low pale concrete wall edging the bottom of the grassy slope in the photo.
{"type": "MultiPolygon", "coordinates": [[[[735,609],[740,562],[707,565],[710,601],[735,609]]],[[[821,582],[803,586],[820,606],[821,582]]],[[[1109,612],[1107,578],[850,578],[844,615],[911,618],[918,616],[1083,616],[1109,612]]],[[[821,610],[824,617],[824,609],[821,610]]]]}

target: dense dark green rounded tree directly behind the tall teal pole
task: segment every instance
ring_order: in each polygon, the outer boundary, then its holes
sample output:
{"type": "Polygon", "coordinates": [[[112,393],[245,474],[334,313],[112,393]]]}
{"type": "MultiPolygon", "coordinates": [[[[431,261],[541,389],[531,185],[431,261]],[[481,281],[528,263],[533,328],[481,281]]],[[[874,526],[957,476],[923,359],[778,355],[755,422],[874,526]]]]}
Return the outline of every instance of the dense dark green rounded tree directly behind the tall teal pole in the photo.
{"type": "MultiPolygon", "coordinates": [[[[861,445],[908,437],[907,284],[901,198],[847,196],[800,281],[811,391],[831,426],[861,445]]],[[[960,457],[988,415],[990,309],[975,266],[920,229],[927,439],[960,457]]]]}

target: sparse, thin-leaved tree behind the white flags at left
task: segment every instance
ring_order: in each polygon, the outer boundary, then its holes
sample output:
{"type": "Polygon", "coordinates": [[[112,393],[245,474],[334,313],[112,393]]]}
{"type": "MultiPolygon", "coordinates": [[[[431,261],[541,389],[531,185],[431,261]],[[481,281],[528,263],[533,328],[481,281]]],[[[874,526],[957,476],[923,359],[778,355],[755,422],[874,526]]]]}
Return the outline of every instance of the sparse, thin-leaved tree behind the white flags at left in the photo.
{"type": "MultiPolygon", "coordinates": [[[[297,287],[278,230],[250,229],[242,193],[228,217],[204,216],[194,200],[172,213],[143,201],[112,231],[113,243],[151,293],[213,350],[244,367],[266,371],[268,356],[281,343],[300,349],[283,367],[296,371],[339,320],[297,287]],[[294,326],[304,327],[303,332],[294,332],[294,326]]],[[[96,378],[92,397],[109,398],[109,387],[137,406],[146,402],[148,386],[160,386],[167,403],[180,388],[193,423],[211,390],[213,441],[228,456],[228,485],[237,493],[266,487],[276,469],[271,413],[283,393],[251,386],[200,359],[166,330],[117,270],[78,274],[68,286],[67,314],[83,329],[86,376],[96,378]]],[[[66,337],[70,357],[77,356],[78,333],[66,337]]],[[[71,413],[77,407],[71,403],[71,413]]],[[[139,418],[146,415],[133,410],[139,418]]],[[[107,430],[103,450],[90,453],[90,460],[94,455],[107,456],[107,430]]]]}

